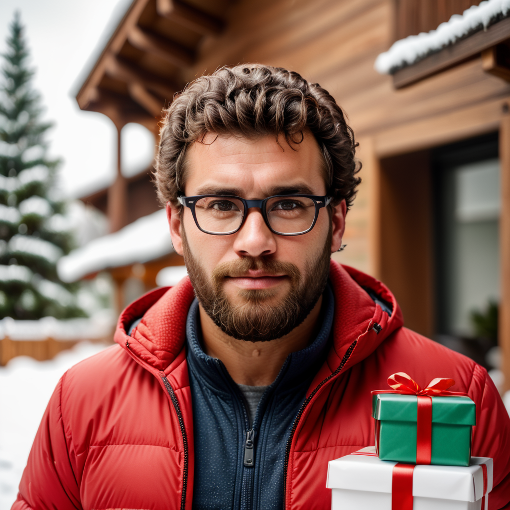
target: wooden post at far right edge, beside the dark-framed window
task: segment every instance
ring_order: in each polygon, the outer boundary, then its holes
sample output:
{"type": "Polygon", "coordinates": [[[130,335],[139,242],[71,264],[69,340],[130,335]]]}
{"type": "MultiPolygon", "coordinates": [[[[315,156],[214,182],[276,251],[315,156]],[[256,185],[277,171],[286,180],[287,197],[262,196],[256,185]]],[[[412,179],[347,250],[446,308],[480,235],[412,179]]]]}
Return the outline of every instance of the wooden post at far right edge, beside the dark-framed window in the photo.
{"type": "Polygon", "coordinates": [[[501,120],[499,131],[501,164],[501,216],[499,223],[501,302],[499,306],[499,345],[505,380],[503,390],[510,390],[510,114],[501,120]]]}

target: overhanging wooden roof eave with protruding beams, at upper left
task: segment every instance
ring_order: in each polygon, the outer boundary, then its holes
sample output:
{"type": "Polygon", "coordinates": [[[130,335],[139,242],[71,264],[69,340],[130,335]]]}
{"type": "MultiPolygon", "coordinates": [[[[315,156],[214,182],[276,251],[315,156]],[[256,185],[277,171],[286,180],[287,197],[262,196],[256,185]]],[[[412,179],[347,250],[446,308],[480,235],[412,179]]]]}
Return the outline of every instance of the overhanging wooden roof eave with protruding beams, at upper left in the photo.
{"type": "MultiPolygon", "coordinates": [[[[157,16],[178,23],[199,37],[216,35],[223,29],[221,20],[179,0],[134,0],[77,94],[82,110],[104,113],[118,129],[126,121],[133,121],[124,113],[136,111],[134,105],[145,112],[146,118],[141,123],[154,123],[155,118],[161,117],[162,108],[171,101],[174,93],[184,86],[184,83],[177,83],[180,80],[156,76],[121,57],[119,54],[126,42],[143,54],[167,62],[177,69],[186,69],[195,61],[195,49],[184,47],[138,24],[150,2],[155,2],[157,16]],[[105,77],[113,79],[119,86],[122,84],[122,98],[111,102],[101,100],[105,96],[102,87],[105,77]]],[[[106,91],[106,96],[109,95],[109,91],[106,91]]],[[[136,116],[140,121],[139,113],[136,116]]]]}

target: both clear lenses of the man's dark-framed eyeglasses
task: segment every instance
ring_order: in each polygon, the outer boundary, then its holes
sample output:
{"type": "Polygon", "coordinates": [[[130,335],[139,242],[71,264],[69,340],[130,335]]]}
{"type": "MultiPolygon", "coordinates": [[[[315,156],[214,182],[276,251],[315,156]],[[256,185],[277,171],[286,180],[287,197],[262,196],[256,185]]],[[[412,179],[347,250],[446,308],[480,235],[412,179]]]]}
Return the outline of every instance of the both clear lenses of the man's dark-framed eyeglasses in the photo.
{"type": "MultiPolygon", "coordinates": [[[[195,204],[197,223],[202,230],[211,234],[235,232],[244,214],[243,202],[236,198],[204,197],[195,204]]],[[[305,232],[314,222],[315,202],[302,196],[273,197],[266,202],[266,217],[274,232],[305,232]]]]}

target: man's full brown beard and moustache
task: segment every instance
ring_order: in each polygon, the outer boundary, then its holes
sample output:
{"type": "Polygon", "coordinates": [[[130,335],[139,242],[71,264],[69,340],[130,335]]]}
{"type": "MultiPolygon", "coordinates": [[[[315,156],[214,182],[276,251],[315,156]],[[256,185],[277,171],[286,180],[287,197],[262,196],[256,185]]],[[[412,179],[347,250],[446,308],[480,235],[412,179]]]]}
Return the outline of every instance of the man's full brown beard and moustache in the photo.
{"type": "Polygon", "coordinates": [[[224,333],[238,340],[267,342],[287,335],[307,318],[327,283],[331,227],[322,252],[307,263],[304,275],[290,262],[242,257],[218,265],[209,280],[191,253],[184,228],[182,240],[184,262],[199,303],[224,333]],[[250,269],[269,275],[285,274],[290,289],[272,305],[268,301],[277,295],[277,289],[239,289],[239,303],[232,303],[223,288],[226,278],[244,276],[250,269]]]}

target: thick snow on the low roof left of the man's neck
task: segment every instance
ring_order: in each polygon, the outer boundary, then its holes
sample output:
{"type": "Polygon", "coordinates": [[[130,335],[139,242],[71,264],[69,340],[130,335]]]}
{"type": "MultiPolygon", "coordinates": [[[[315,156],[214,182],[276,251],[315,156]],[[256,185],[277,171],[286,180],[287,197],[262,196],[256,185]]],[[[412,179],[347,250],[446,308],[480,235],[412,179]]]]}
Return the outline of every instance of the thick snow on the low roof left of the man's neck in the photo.
{"type": "Polygon", "coordinates": [[[166,212],[161,209],[71,251],[59,260],[57,270],[64,282],[75,282],[90,273],[137,262],[143,264],[171,251],[166,212]]]}

